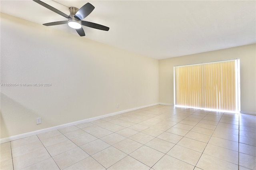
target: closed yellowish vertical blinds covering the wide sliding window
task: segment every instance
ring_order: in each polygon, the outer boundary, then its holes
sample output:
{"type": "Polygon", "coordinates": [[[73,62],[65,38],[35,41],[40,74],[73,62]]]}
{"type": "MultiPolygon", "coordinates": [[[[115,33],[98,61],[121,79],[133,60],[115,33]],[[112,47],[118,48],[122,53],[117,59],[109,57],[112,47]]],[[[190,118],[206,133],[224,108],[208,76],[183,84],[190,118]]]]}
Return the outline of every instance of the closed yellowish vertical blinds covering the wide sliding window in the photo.
{"type": "Polygon", "coordinates": [[[174,67],[175,105],[237,112],[239,59],[174,67]]]}

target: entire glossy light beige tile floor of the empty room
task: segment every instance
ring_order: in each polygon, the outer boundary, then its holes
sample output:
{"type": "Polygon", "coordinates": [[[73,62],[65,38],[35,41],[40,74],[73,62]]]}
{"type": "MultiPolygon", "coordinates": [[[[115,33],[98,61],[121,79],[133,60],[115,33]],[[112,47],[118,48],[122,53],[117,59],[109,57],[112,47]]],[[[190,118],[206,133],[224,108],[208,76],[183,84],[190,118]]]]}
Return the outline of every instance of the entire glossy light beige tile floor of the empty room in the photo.
{"type": "Polygon", "coordinates": [[[256,116],[156,105],[1,144],[1,170],[255,170],[256,116]]]}

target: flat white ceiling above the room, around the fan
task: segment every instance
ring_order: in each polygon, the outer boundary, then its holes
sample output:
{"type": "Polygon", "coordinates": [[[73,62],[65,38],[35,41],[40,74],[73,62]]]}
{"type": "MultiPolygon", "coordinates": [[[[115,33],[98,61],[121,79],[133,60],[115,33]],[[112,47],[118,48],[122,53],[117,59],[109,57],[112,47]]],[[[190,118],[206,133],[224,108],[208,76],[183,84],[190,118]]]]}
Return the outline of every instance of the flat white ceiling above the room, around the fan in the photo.
{"type": "MultiPolygon", "coordinates": [[[[88,38],[148,57],[164,59],[256,43],[256,1],[87,1],[42,0],[69,15],[87,2],[85,21],[108,32],[83,27],[88,38]]],[[[0,0],[1,12],[38,24],[66,20],[32,0],[0,0]]],[[[67,24],[51,26],[70,34],[67,24]]],[[[46,33],[47,34],[47,33],[46,33]]]]}

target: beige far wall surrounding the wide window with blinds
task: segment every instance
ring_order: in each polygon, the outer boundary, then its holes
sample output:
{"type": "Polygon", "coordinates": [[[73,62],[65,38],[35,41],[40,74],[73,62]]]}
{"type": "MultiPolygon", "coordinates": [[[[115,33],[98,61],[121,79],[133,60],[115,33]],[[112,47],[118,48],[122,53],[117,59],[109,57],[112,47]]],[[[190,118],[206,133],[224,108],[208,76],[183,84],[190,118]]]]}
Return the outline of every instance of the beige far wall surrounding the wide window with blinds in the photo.
{"type": "Polygon", "coordinates": [[[159,102],[174,104],[173,67],[240,58],[241,111],[256,112],[256,44],[159,60],[159,102]]]}

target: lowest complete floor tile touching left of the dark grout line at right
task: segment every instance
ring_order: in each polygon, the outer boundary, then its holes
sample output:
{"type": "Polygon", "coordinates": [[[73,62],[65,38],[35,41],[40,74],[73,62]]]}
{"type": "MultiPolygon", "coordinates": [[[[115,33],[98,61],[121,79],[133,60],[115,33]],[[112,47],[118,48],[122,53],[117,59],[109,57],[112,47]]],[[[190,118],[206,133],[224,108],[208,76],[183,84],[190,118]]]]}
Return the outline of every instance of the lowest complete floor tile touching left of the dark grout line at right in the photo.
{"type": "Polygon", "coordinates": [[[208,144],[204,150],[204,154],[214,156],[216,158],[238,164],[238,152],[220,146],[208,144]]]}

